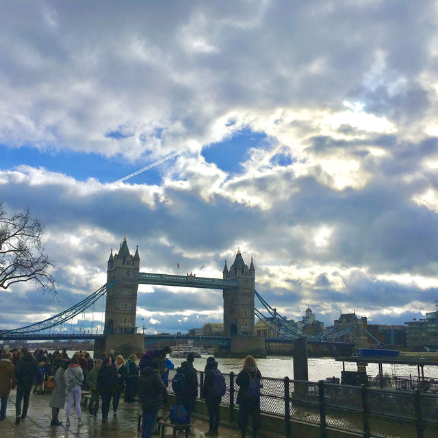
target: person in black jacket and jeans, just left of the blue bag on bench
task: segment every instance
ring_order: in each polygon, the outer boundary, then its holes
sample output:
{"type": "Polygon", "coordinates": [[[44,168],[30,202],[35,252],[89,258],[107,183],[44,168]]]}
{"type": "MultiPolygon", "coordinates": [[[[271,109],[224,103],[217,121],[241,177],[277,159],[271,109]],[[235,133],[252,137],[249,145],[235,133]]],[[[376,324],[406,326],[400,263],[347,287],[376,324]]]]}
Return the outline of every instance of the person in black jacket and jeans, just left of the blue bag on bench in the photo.
{"type": "Polygon", "coordinates": [[[142,402],[142,438],[151,438],[159,407],[167,396],[166,385],[164,385],[159,369],[155,365],[142,369],[137,385],[138,395],[142,402]]]}

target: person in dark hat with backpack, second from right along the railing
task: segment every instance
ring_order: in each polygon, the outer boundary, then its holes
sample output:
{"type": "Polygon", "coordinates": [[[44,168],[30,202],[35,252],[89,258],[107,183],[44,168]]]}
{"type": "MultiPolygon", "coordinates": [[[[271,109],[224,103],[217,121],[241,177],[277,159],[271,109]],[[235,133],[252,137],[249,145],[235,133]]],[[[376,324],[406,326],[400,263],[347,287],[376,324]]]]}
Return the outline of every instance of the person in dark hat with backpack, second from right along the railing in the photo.
{"type": "Polygon", "coordinates": [[[219,435],[219,404],[226,391],[225,379],[218,370],[218,363],[213,356],[207,358],[204,374],[203,398],[207,404],[209,416],[209,429],[206,437],[219,435]]]}

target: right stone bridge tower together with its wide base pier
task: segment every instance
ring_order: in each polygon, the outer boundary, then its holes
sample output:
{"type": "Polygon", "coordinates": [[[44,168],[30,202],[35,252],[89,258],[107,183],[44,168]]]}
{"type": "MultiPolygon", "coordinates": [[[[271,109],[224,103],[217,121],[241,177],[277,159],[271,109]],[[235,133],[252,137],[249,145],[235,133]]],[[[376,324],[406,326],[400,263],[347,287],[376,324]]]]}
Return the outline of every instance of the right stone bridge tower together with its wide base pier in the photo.
{"type": "Polygon", "coordinates": [[[216,356],[242,357],[252,354],[266,357],[265,339],[254,336],[255,268],[251,258],[250,266],[245,264],[240,250],[237,250],[230,269],[225,261],[223,278],[237,280],[237,288],[224,289],[224,335],[229,336],[229,350],[217,348],[216,356]]]}

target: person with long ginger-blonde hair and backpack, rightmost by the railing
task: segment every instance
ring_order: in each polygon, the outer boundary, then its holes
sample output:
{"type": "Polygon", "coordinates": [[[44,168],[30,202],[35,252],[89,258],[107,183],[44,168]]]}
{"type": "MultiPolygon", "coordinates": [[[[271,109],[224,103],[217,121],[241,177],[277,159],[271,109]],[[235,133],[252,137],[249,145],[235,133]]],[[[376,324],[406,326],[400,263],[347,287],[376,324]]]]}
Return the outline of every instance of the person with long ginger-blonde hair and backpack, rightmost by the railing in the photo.
{"type": "Polygon", "coordinates": [[[261,374],[253,356],[246,356],[242,371],[235,380],[239,386],[237,404],[239,404],[239,429],[242,438],[246,437],[249,416],[253,419],[253,438],[257,437],[260,424],[260,388],[261,374]]]}

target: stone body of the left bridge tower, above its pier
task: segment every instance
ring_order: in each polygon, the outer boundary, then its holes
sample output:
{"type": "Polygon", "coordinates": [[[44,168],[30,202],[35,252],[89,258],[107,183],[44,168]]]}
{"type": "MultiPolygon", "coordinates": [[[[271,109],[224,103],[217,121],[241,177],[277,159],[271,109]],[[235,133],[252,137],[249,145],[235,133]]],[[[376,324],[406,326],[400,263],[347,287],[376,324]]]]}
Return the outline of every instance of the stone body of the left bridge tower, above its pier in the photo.
{"type": "Polygon", "coordinates": [[[107,283],[116,284],[107,291],[105,307],[105,334],[135,334],[137,312],[138,272],[140,256],[138,248],[131,256],[125,239],[118,254],[108,259],[107,283]]]}

